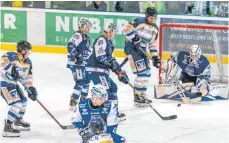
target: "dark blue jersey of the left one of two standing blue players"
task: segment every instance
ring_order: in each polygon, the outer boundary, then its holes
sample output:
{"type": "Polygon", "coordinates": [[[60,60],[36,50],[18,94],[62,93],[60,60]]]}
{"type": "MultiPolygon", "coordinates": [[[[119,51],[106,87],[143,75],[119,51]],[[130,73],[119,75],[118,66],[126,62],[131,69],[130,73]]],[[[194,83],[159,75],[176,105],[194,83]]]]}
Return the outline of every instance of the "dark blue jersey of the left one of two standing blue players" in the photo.
{"type": "Polygon", "coordinates": [[[76,31],[68,42],[68,63],[67,68],[70,66],[76,65],[76,56],[83,57],[83,64],[86,64],[86,60],[91,55],[90,48],[90,39],[86,34],[81,33],[80,31],[76,31]]]}

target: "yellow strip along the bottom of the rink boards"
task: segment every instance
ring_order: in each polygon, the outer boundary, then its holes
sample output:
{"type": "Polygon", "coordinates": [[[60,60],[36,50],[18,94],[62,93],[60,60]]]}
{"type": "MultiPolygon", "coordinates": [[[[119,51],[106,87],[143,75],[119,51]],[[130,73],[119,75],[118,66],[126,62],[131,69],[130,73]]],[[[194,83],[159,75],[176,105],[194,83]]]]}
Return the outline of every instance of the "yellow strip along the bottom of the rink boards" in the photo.
{"type": "MultiPolygon", "coordinates": [[[[1,43],[1,50],[5,51],[16,51],[15,44],[4,44],[1,43]]],[[[67,54],[67,49],[64,46],[40,46],[40,45],[33,45],[33,52],[39,53],[54,53],[54,54],[67,54]]],[[[114,52],[115,57],[126,57],[123,50],[115,50],[114,52]]],[[[162,59],[168,60],[170,57],[170,53],[163,53],[162,59]]],[[[216,63],[217,58],[214,55],[207,55],[208,60],[210,63],[216,63]]],[[[222,63],[228,64],[228,56],[222,56],[222,63]]]]}

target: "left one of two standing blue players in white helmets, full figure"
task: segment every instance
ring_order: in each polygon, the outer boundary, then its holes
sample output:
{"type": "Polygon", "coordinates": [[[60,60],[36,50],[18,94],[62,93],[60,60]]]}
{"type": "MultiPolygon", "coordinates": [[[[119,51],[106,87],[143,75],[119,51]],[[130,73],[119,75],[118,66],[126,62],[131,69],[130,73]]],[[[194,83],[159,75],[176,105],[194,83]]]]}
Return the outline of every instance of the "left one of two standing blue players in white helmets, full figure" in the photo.
{"type": "Polygon", "coordinates": [[[70,110],[75,111],[78,99],[86,98],[89,88],[89,80],[86,78],[86,59],[91,54],[90,39],[87,35],[92,27],[88,19],[81,19],[79,30],[76,31],[68,42],[67,68],[72,72],[75,86],[70,99],[70,110]]]}

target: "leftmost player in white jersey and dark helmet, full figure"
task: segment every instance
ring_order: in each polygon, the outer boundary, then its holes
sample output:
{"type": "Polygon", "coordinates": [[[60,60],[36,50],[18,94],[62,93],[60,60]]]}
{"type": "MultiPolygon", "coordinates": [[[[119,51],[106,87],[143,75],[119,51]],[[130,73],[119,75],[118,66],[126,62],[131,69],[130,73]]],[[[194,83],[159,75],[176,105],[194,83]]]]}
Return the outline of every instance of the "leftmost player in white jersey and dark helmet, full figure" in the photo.
{"type": "Polygon", "coordinates": [[[35,101],[37,90],[32,82],[32,62],[29,59],[31,44],[27,41],[17,43],[17,52],[7,52],[1,57],[1,96],[10,106],[5,127],[4,137],[19,137],[21,130],[30,130],[30,124],[23,120],[27,107],[27,98],[21,82],[29,87],[28,97],[35,101]]]}

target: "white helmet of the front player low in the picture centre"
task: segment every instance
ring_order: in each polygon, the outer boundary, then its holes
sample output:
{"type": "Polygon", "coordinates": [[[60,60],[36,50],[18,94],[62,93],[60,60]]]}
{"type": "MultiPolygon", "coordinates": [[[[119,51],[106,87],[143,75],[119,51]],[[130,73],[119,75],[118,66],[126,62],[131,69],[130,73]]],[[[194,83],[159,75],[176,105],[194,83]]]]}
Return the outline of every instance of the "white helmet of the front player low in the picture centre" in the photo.
{"type": "Polygon", "coordinates": [[[104,98],[104,102],[108,100],[107,90],[101,84],[94,85],[91,89],[91,94],[93,97],[104,98]]]}

